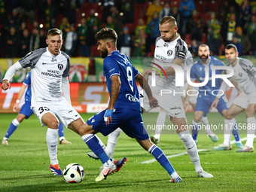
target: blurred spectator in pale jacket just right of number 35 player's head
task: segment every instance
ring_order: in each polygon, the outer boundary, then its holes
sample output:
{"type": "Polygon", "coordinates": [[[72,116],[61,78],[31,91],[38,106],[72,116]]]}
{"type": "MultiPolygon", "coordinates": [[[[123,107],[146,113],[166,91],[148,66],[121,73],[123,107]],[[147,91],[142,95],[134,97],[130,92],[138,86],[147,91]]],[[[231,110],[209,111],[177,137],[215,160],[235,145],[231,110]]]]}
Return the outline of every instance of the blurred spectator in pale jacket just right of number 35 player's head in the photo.
{"type": "Polygon", "coordinates": [[[78,41],[78,33],[75,31],[75,25],[70,26],[70,31],[67,33],[65,41],[65,52],[69,56],[75,56],[75,49],[78,41]]]}

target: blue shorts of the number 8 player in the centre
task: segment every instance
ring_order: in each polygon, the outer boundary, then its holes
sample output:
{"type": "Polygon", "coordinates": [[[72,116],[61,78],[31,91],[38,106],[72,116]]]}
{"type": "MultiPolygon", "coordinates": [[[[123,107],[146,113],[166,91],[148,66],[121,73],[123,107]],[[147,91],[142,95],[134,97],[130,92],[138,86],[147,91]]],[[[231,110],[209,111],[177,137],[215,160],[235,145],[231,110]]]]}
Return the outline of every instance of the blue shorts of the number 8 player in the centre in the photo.
{"type": "Polygon", "coordinates": [[[140,140],[148,139],[148,132],[142,121],[142,114],[140,111],[135,111],[130,108],[116,108],[112,114],[112,123],[105,124],[104,114],[107,109],[93,115],[87,120],[88,125],[93,126],[93,130],[102,133],[103,136],[108,136],[118,127],[131,138],[138,138],[140,140]]]}

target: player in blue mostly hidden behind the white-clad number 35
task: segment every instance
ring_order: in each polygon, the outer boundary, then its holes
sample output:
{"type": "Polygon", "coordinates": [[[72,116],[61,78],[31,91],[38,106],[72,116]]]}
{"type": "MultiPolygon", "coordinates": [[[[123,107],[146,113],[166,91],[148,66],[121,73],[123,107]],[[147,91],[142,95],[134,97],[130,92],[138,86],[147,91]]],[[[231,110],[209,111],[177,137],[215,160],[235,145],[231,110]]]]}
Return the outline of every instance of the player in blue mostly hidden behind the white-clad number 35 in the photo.
{"type": "MultiPolygon", "coordinates": [[[[30,83],[31,83],[31,72],[29,72],[26,75],[26,79],[23,81],[23,85],[20,88],[20,92],[18,94],[18,98],[17,101],[14,105],[14,112],[17,112],[17,109],[19,108],[19,103],[20,103],[20,99],[23,96],[23,93],[26,90],[25,93],[25,103],[22,105],[22,107],[20,108],[20,112],[18,114],[18,116],[11,121],[11,124],[8,128],[7,133],[5,134],[4,139],[2,140],[2,145],[8,145],[8,140],[10,139],[10,136],[14,133],[14,131],[17,129],[17,126],[20,125],[20,123],[26,118],[28,119],[32,114],[33,114],[33,110],[31,109],[31,87],[30,87],[30,83]]],[[[60,144],[71,144],[71,142],[68,142],[65,137],[64,137],[64,128],[63,128],[63,124],[59,122],[59,143],[60,144]]]]}

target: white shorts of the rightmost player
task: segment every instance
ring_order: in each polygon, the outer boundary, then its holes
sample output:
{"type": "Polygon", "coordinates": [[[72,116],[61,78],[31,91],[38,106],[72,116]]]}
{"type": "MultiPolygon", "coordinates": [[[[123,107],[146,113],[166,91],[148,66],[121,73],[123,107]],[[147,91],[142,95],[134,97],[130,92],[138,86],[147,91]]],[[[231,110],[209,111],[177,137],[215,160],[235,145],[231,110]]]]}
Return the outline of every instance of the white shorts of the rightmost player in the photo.
{"type": "Polygon", "coordinates": [[[249,104],[256,104],[256,93],[241,93],[236,97],[236,99],[233,100],[233,104],[246,109],[248,108],[249,104]]]}

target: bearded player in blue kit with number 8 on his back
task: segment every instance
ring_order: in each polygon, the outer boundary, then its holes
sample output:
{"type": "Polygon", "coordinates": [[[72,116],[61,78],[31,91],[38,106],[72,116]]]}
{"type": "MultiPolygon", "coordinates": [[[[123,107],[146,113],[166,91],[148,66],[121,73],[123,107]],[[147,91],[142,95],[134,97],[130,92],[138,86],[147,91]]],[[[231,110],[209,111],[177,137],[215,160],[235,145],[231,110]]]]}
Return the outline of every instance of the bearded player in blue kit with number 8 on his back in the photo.
{"type": "Polygon", "coordinates": [[[157,99],[152,96],[147,81],[131,64],[130,59],[117,50],[117,33],[113,29],[101,29],[96,34],[96,43],[102,58],[105,58],[103,72],[110,94],[108,108],[90,117],[82,127],[84,133],[82,139],[99,157],[104,166],[96,181],[102,181],[111,172],[114,172],[115,168],[94,134],[100,132],[103,136],[108,136],[109,133],[120,127],[127,136],[135,138],[142,148],[153,154],[169,173],[171,182],[181,182],[181,178],[169,163],[166,155],[163,154],[160,148],[151,143],[145,130],[136,81],[147,93],[150,105],[157,106],[158,103],[157,99]]]}

